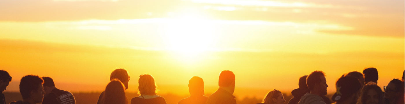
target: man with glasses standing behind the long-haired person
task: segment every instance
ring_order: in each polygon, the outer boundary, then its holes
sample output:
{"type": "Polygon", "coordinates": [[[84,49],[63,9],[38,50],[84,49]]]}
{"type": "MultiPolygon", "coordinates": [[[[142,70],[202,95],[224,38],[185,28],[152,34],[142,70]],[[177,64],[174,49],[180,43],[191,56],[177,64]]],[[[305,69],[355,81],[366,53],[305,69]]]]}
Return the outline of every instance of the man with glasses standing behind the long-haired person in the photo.
{"type": "MultiPolygon", "coordinates": [[[[128,89],[128,82],[130,80],[130,76],[128,76],[128,72],[126,69],[115,69],[113,72],[111,72],[110,75],[110,81],[113,79],[118,79],[124,84],[125,89],[128,89]]],[[[100,97],[98,97],[97,104],[104,104],[103,102],[103,96],[104,96],[104,91],[100,94],[100,97]]]]}

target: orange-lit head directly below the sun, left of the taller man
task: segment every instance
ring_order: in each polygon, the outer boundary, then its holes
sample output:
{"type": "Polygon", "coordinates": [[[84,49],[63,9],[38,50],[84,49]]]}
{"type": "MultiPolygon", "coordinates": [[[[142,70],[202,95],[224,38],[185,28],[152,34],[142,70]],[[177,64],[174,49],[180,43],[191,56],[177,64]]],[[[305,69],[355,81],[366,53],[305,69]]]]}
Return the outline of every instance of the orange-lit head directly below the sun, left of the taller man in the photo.
{"type": "Polygon", "coordinates": [[[204,81],[203,78],[194,76],[188,81],[188,91],[190,95],[204,95],[204,81]]]}

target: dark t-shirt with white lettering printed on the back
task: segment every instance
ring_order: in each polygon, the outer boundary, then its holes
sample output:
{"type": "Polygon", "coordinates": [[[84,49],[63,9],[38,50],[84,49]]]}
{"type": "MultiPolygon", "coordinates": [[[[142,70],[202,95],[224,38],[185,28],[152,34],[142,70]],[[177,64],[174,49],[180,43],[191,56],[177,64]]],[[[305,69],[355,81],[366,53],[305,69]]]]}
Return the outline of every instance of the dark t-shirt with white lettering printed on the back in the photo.
{"type": "Polygon", "coordinates": [[[69,91],[53,89],[44,97],[42,104],[76,104],[76,100],[69,91]]]}

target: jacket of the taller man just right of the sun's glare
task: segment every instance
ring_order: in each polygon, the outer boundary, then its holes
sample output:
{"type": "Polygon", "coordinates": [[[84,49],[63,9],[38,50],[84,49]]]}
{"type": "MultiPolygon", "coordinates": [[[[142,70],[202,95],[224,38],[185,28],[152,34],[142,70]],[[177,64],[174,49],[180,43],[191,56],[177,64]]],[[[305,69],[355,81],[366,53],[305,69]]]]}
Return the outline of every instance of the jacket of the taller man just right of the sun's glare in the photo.
{"type": "Polygon", "coordinates": [[[215,93],[210,95],[205,104],[236,104],[235,96],[232,93],[219,88],[215,93]]]}

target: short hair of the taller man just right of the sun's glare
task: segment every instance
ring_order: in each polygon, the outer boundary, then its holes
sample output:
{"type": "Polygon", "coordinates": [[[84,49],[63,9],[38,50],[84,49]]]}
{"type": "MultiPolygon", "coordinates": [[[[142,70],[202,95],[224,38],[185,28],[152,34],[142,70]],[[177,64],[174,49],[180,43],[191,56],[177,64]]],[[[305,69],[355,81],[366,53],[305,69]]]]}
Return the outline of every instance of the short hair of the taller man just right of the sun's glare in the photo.
{"type": "Polygon", "coordinates": [[[224,70],[220,73],[218,85],[220,87],[229,87],[232,82],[235,82],[235,74],[229,70],[224,70]]]}

